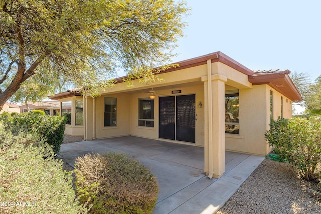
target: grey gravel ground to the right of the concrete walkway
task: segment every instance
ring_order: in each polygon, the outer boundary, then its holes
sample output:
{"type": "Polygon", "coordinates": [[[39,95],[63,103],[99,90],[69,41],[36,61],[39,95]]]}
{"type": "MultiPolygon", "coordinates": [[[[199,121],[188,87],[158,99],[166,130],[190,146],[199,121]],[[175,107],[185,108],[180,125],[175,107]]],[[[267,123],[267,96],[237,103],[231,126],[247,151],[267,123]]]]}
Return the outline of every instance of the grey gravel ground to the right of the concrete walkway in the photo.
{"type": "Polygon", "coordinates": [[[217,213],[321,213],[307,188],[317,185],[299,179],[294,166],[265,159],[217,213]]]}

